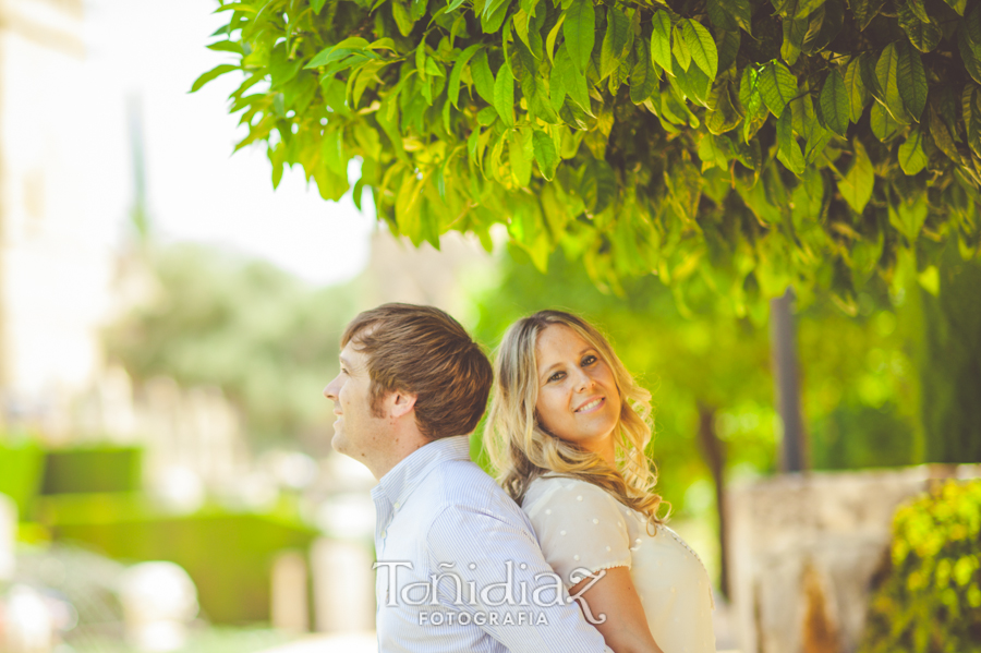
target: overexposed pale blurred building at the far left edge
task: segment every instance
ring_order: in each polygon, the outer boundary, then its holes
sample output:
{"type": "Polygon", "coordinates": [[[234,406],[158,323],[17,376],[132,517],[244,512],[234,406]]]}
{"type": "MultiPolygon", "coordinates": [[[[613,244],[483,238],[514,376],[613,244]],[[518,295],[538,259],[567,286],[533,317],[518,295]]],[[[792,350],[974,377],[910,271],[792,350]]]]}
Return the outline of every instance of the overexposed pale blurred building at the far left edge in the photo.
{"type": "Polygon", "coordinates": [[[55,438],[102,367],[126,194],[114,102],[84,99],[83,17],[83,0],[0,0],[0,415],[55,438]]]}

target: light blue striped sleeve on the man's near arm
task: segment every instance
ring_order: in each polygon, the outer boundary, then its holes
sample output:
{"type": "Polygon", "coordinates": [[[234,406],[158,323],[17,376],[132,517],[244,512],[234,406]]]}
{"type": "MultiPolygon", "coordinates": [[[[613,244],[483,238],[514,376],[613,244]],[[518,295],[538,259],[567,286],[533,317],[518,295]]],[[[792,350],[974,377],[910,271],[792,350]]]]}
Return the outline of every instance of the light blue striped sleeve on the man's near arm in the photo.
{"type": "Polygon", "coordinates": [[[511,522],[474,507],[452,506],[433,521],[427,546],[434,573],[458,577],[463,590],[461,600],[452,578],[440,582],[440,604],[471,617],[481,614],[471,622],[508,651],[613,653],[569,600],[523,519],[511,522]]]}

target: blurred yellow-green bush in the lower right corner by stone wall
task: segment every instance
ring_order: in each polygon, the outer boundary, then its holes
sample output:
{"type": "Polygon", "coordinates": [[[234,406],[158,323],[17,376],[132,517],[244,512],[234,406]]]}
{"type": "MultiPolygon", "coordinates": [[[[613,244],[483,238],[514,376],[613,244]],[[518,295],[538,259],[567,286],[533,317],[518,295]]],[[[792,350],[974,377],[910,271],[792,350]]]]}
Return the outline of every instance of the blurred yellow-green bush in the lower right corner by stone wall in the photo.
{"type": "Polygon", "coordinates": [[[861,653],[981,651],[981,482],[903,507],[861,653]]]}

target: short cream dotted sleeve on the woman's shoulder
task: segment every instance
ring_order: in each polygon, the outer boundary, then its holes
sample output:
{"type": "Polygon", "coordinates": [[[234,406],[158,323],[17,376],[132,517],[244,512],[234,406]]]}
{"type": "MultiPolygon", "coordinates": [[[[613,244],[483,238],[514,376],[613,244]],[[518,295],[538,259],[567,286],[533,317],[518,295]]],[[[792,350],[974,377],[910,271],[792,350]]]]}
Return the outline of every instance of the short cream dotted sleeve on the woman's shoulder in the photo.
{"type": "Polygon", "coordinates": [[[566,589],[577,569],[595,573],[613,567],[630,568],[630,536],[620,504],[606,491],[585,481],[553,479],[530,505],[528,517],[535,529],[545,560],[566,589]]]}

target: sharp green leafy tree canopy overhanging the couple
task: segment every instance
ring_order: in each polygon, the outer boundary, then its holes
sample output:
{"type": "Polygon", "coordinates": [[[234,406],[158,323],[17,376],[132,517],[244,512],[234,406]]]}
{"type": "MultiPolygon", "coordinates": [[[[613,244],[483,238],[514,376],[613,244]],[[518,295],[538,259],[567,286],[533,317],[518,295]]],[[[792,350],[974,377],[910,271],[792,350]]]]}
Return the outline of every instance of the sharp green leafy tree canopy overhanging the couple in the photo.
{"type": "Polygon", "coordinates": [[[505,222],[616,286],[737,313],[788,283],[981,251],[981,7],[966,0],[242,0],[209,47],[274,184],[299,165],[415,243],[505,222]]]}

